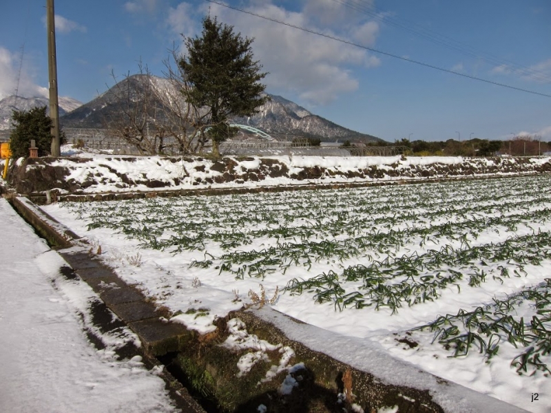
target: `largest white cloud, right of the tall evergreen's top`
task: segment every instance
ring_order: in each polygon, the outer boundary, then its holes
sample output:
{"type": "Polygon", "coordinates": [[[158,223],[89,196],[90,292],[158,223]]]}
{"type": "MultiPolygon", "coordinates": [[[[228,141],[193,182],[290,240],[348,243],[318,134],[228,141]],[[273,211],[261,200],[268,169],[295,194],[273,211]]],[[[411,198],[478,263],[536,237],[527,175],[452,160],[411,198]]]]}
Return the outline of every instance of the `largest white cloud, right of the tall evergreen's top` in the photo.
{"type": "MultiPolygon", "coordinates": [[[[188,3],[180,3],[178,8],[171,10],[167,23],[174,32],[183,32],[189,27],[190,8],[188,3]]],[[[304,10],[298,12],[284,10],[267,1],[253,1],[251,6],[245,8],[271,19],[364,45],[373,45],[379,30],[377,23],[360,21],[357,12],[351,13],[349,8],[334,1],[307,1],[304,10]],[[320,25],[322,21],[330,22],[331,30],[327,29],[327,25],[320,28],[315,21],[319,21],[320,25]],[[343,21],[348,23],[340,25],[343,21]],[[351,24],[358,21],[360,23],[351,24]]],[[[198,11],[207,10],[203,7],[198,11]]],[[[298,94],[314,105],[329,103],[340,94],[356,90],[359,82],[351,70],[353,66],[365,70],[366,67],[380,65],[380,59],[367,50],[287,25],[216,4],[210,5],[210,14],[233,25],[242,36],[254,38],[252,47],[255,59],[260,61],[264,72],[269,72],[264,78],[269,89],[298,94]]]]}

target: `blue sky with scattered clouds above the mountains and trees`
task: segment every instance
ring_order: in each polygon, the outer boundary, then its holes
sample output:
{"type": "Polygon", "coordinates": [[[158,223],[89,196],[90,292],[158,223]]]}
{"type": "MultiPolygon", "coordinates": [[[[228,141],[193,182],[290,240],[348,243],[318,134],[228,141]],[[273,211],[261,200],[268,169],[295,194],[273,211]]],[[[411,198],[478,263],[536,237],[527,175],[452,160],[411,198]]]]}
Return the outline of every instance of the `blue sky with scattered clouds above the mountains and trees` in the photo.
{"type": "MultiPolygon", "coordinates": [[[[45,0],[1,0],[0,98],[47,92],[45,0]],[[24,45],[21,76],[19,63],[24,45]]],[[[548,0],[230,0],[225,3],[358,45],[551,95],[548,0]]],[[[538,134],[551,98],[433,70],[205,0],[56,0],[59,94],[92,100],[138,72],[161,74],[206,13],[254,37],[267,92],[393,142],[538,134]],[[459,132],[459,134],[457,133],[459,132]]]]}

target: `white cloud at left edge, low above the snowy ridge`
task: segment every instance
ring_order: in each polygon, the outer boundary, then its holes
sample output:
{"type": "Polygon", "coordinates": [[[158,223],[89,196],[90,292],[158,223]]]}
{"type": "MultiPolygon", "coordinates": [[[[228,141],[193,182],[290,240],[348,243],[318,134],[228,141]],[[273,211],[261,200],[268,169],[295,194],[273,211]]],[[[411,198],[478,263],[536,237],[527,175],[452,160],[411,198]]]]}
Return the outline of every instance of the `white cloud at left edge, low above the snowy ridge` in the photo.
{"type": "Polygon", "coordinates": [[[32,76],[28,74],[25,62],[19,78],[19,89],[17,89],[17,76],[19,74],[19,56],[10,50],[0,47],[0,99],[15,94],[19,96],[48,96],[48,89],[34,83],[32,76]]]}

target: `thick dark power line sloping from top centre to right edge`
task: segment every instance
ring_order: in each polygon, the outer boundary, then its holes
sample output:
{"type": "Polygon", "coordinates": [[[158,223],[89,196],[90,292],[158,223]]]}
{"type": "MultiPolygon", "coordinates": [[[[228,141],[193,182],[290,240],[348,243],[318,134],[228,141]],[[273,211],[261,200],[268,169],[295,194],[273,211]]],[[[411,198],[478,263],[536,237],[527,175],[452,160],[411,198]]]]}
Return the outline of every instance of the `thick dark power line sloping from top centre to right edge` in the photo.
{"type": "Polygon", "coordinates": [[[329,34],[324,34],[324,33],[316,32],[315,30],[306,29],[306,28],[303,28],[303,27],[298,26],[298,25],[293,25],[293,24],[291,24],[291,23],[286,23],[286,22],[284,22],[284,21],[280,21],[280,20],[278,20],[278,19],[272,19],[271,17],[263,16],[262,14],[257,14],[257,13],[254,13],[254,12],[249,12],[249,11],[247,11],[247,10],[242,10],[242,9],[237,8],[237,7],[234,7],[234,6],[229,6],[229,4],[220,3],[219,1],[215,1],[215,0],[205,0],[205,1],[208,1],[209,3],[218,4],[218,6],[222,6],[222,7],[225,7],[225,8],[229,8],[229,9],[231,9],[231,10],[236,10],[236,11],[238,11],[238,12],[242,12],[242,13],[245,13],[245,14],[250,14],[251,16],[259,17],[260,19],[264,19],[264,20],[268,20],[268,21],[273,21],[274,23],[286,25],[286,26],[288,26],[288,27],[290,27],[290,28],[302,30],[303,32],[308,32],[308,33],[311,33],[311,34],[315,34],[315,35],[317,35],[317,36],[326,37],[327,39],[339,41],[340,43],[345,43],[345,44],[347,44],[347,45],[352,45],[352,46],[355,46],[355,47],[360,47],[360,48],[365,49],[365,50],[369,50],[369,51],[371,51],[371,52],[375,52],[375,53],[379,53],[379,54],[384,54],[384,56],[393,57],[393,58],[395,58],[395,59],[399,59],[399,60],[406,61],[406,62],[409,62],[409,63],[415,63],[416,65],[422,65],[422,66],[425,66],[425,67],[430,67],[431,69],[440,70],[441,72],[451,73],[451,74],[455,74],[455,75],[457,75],[457,76],[462,76],[462,77],[465,77],[465,78],[470,78],[470,79],[473,79],[473,80],[475,80],[475,81],[481,81],[481,82],[485,82],[485,83],[490,83],[490,85],[496,85],[496,86],[501,86],[501,87],[508,87],[509,89],[518,90],[519,92],[526,92],[526,93],[530,93],[530,94],[536,94],[536,95],[539,95],[539,96],[545,96],[546,98],[551,98],[551,95],[549,95],[549,94],[544,94],[544,93],[540,93],[540,92],[534,92],[533,90],[522,89],[521,87],[515,87],[515,86],[511,86],[511,85],[506,85],[505,83],[498,83],[498,82],[494,82],[494,81],[488,81],[488,79],[479,78],[479,77],[477,77],[477,76],[471,76],[470,74],[459,73],[459,72],[455,72],[454,70],[444,69],[444,67],[438,67],[438,66],[435,66],[435,65],[430,65],[429,63],[423,63],[423,62],[420,62],[420,61],[415,61],[415,60],[413,60],[413,59],[408,59],[408,58],[406,58],[406,57],[397,56],[397,54],[392,54],[392,53],[388,53],[388,52],[383,52],[382,50],[377,50],[377,49],[374,49],[373,47],[367,47],[367,46],[359,45],[359,44],[357,44],[357,43],[353,43],[353,42],[348,41],[348,40],[340,39],[340,38],[338,38],[338,37],[331,36],[331,35],[329,35],[329,34]]]}

